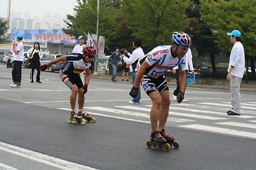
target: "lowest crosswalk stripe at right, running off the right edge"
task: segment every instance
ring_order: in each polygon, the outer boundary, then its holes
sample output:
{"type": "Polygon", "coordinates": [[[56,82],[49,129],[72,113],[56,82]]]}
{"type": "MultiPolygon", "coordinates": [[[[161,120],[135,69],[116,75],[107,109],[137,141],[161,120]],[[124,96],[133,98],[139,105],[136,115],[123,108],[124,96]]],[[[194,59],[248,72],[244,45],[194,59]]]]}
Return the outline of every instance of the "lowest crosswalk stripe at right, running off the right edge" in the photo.
{"type": "Polygon", "coordinates": [[[198,124],[180,125],[178,127],[189,128],[193,130],[202,130],[205,132],[214,132],[216,134],[227,134],[227,135],[235,135],[238,137],[250,137],[250,138],[256,139],[256,133],[234,130],[229,128],[211,127],[211,126],[198,125],[198,124]]]}

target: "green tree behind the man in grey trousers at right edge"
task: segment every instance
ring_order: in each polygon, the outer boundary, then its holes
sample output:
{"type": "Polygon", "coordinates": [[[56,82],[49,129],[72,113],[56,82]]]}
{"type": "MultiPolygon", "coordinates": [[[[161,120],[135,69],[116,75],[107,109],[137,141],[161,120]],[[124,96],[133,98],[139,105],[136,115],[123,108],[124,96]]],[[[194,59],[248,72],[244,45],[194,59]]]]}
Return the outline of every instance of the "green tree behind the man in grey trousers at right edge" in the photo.
{"type": "MultiPolygon", "coordinates": [[[[249,58],[255,58],[254,47],[256,45],[256,1],[249,0],[201,0],[202,19],[214,31],[218,38],[218,47],[223,51],[230,51],[230,43],[227,33],[238,29],[242,33],[244,52],[246,55],[246,70],[248,70],[249,58]]],[[[254,68],[254,63],[253,64],[254,68]]],[[[248,82],[248,74],[246,74],[248,82]]]]}

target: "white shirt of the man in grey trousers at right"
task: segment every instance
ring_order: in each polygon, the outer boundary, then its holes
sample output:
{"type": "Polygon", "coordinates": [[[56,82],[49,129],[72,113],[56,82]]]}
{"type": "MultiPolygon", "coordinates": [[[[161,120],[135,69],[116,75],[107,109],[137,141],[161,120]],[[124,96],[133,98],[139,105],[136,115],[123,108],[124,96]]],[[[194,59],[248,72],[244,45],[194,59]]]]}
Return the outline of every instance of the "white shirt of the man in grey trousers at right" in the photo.
{"type": "Polygon", "coordinates": [[[228,71],[230,66],[234,66],[231,75],[236,77],[244,76],[244,47],[241,42],[234,43],[230,52],[228,71]]]}

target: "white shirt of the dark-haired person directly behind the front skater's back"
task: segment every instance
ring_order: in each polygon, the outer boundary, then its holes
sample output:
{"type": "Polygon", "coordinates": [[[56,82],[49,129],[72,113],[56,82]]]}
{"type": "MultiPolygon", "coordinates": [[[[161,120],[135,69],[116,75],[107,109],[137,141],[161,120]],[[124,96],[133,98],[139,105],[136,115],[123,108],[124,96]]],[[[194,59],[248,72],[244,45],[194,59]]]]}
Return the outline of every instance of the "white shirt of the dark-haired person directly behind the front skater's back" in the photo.
{"type": "Polygon", "coordinates": [[[125,63],[127,63],[127,65],[130,65],[130,71],[131,72],[136,72],[137,68],[135,68],[135,70],[132,69],[132,64],[137,60],[137,59],[141,59],[145,56],[143,49],[141,49],[141,47],[138,47],[136,49],[134,49],[132,51],[132,54],[130,52],[128,52],[128,56],[129,58],[127,58],[126,56],[124,56],[124,61],[125,63]]]}

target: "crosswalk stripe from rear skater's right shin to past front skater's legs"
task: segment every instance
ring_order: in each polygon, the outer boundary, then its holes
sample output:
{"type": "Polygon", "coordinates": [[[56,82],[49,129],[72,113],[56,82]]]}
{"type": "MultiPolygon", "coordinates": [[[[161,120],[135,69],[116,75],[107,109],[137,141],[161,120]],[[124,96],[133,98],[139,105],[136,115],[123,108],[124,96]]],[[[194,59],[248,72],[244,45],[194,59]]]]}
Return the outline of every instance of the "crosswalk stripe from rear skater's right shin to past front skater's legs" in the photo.
{"type": "MultiPolygon", "coordinates": [[[[104,111],[104,112],[113,112],[117,114],[124,114],[129,116],[138,116],[141,118],[150,118],[149,114],[141,113],[141,112],[131,112],[131,111],[124,111],[124,110],[118,110],[118,109],[110,109],[106,107],[84,107],[84,109],[92,109],[96,111],[104,111]]],[[[185,121],[193,121],[193,120],[185,120],[180,118],[168,118],[168,121],[174,121],[174,122],[185,122],[185,121]]]]}

